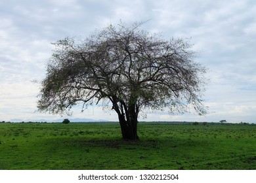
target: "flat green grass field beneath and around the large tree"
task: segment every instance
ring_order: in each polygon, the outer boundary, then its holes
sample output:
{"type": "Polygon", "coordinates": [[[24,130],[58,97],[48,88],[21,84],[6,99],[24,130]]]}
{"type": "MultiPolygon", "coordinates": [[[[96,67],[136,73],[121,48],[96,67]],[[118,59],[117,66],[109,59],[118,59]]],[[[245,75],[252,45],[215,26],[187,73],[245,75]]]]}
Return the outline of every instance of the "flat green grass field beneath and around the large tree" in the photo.
{"type": "Polygon", "coordinates": [[[256,169],[256,125],[0,123],[0,169],[256,169]]]}

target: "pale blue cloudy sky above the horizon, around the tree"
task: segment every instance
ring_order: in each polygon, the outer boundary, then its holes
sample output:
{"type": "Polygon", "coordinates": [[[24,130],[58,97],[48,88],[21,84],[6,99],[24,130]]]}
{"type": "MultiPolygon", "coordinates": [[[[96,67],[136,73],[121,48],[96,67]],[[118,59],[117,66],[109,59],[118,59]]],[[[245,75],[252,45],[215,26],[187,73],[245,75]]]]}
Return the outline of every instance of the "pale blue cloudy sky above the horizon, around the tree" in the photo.
{"type": "Polygon", "coordinates": [[[37,112],[39,84],[53,53],[51,42],[85,39],[119,21],[146,21],[142,29],[166,39],[190,38],[207,67],[208,114],[155,111],[140,121],[256,123],[256,1],[254,0],[0,0],[0,121],[90,118],[117,121],[93,105],[72,116],[37,112]]]}

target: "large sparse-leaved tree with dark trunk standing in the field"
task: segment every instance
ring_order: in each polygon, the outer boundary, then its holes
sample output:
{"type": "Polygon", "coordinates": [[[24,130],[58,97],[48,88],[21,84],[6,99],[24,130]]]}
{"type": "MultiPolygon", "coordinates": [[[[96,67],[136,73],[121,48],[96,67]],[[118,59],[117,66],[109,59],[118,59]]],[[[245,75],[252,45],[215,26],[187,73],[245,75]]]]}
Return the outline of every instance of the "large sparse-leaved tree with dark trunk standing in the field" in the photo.
{"type": "Polygon", "coordinates": [[[38,109],[50,113],[81,110],[104,101],[115,110],[123,139],[139,139],[139,112],[205,114],[202,84],[205,68],[191,58],[186,39],[165,41],[140,29],[143,23],[109,25],[84,41],[54,43],[53,56],[41,82],[38,109]]]}

